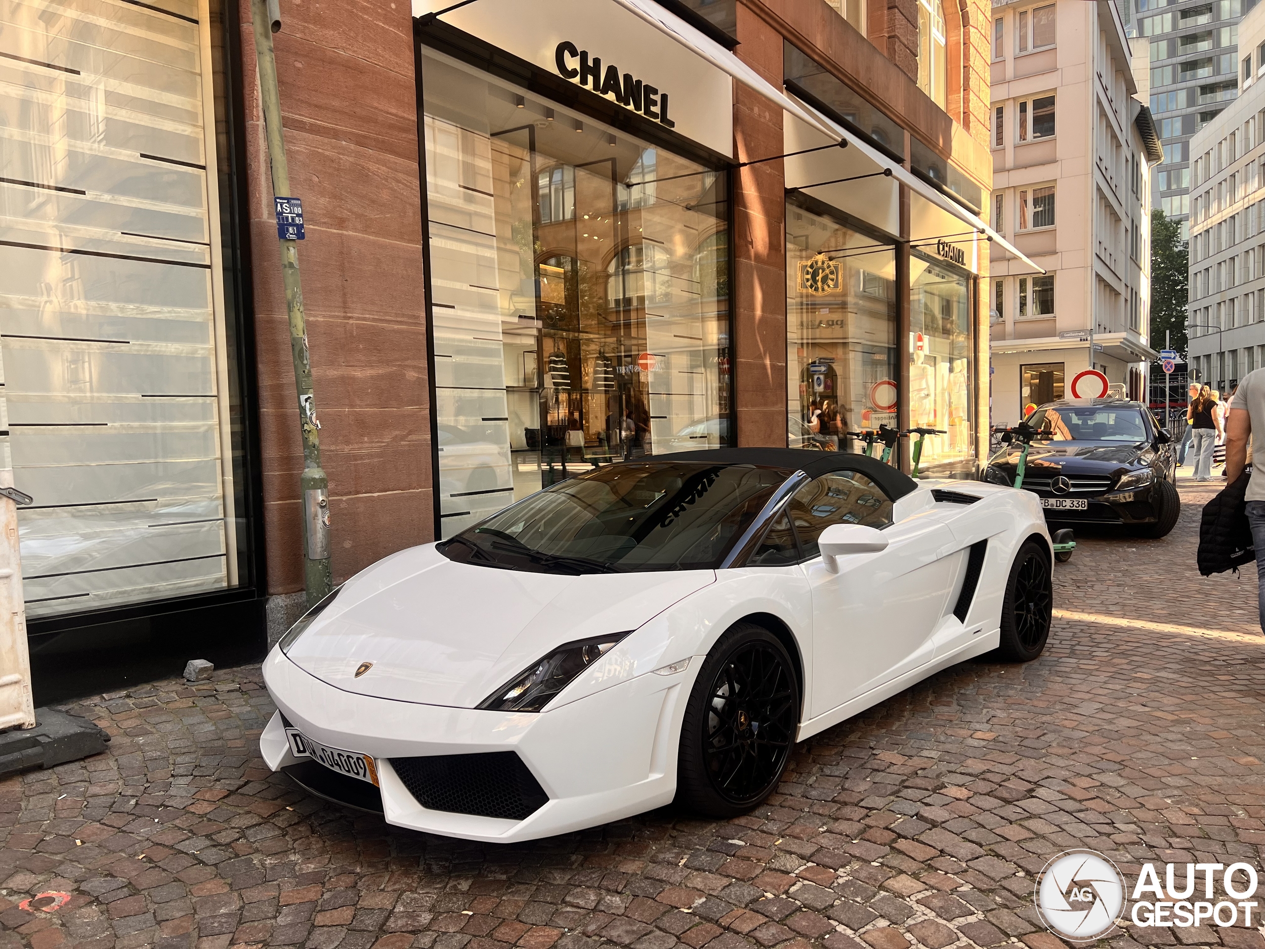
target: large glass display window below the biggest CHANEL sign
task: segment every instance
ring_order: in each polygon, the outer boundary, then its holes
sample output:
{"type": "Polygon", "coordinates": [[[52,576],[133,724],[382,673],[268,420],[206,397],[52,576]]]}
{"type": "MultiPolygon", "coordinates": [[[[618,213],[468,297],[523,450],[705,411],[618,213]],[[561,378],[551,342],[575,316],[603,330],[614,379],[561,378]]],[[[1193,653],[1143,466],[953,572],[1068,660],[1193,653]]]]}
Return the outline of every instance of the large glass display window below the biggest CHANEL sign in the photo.
{"type": "Polygon", "coordinates": [[[725,172],[426,49],[439,534],[732,443],[725,172]]]}

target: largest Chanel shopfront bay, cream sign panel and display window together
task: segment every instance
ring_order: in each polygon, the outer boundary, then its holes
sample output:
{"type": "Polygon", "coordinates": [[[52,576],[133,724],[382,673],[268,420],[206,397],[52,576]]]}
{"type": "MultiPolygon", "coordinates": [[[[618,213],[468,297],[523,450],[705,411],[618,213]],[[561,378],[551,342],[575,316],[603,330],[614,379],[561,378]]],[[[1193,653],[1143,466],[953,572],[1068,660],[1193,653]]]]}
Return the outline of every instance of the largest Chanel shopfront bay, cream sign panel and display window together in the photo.
{"type": "Polygon", "coordinates": [[[440,537],[734,440],[730,76],[614,3],[479,6],[417,29],[440,537]]]}

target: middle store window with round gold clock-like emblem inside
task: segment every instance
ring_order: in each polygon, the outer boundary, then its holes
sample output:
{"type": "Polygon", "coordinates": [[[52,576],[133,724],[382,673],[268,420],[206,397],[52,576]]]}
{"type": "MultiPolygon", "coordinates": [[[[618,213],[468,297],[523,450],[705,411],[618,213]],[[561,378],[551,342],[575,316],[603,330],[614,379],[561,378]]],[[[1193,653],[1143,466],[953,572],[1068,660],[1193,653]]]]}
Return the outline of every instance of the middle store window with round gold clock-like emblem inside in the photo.
{"type": "Polygon", "coordinates": [[[859,450],[897,426],[896,251],[787,204],[788,444],[859,450]]]}

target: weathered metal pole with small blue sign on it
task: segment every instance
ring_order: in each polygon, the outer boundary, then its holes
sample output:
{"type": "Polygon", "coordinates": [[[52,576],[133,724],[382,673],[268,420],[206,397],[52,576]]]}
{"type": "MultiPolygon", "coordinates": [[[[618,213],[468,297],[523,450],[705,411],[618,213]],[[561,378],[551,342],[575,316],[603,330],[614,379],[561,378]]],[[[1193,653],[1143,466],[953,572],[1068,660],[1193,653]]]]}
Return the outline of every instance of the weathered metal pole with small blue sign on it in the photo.
{"type": "MultiPolygon", "coordinates": [[[[277,59],[272,34],[281,29],[276,0],[252,0],[254,52],[259,65],[259,99],[267,130],[268,158],[272,162],[272,194],[277,205],[277,243],[281,244],[281,275],[286,285],[286,311],[290,316],[290,352],[295,362],[295,388],[304,439],[304,473],[300,487],[304,500],[304,587],[307,605],[314,606],[331,586],[329,568],[329,480],[320,467],[320,423],[312,395],[312,369],[307,356],[307,326],[304,319],[304,292],[299,281],[297,240],[286,238],[281,226],[282,208],[288,210],[290,166],[281,134],[281,95],[277,91],[277,59]]],[[[302,238],[301,216],[297,234],[302,238]]]]}

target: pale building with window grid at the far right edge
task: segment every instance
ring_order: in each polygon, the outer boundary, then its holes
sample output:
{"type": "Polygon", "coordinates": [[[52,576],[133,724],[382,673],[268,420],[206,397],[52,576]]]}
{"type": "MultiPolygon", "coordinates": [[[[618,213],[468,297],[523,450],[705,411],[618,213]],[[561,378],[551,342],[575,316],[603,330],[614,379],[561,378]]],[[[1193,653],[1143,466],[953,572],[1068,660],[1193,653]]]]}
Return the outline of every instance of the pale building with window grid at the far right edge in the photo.
{"type": "Polygon", "coordinates": [[[1265,364],[1265,5],[1238,27],[1238,97],[1190,139],[1190,368],[1223,392],[1265,364]]]}

